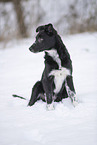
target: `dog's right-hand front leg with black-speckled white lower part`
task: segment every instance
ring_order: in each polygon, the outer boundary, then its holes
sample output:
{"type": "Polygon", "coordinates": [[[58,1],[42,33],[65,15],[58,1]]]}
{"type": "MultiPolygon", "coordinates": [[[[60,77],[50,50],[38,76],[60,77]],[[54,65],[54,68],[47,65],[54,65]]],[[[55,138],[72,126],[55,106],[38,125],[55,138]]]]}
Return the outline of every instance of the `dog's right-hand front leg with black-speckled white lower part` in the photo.
{"type": "Polygon", "coordinates": [[[67,94],[71,98],[71,101],[72,101],[74,107],[77,106],[78,99],[76,97],[72,76],[67,77],[65,85],[66,85],[67,94]]]}

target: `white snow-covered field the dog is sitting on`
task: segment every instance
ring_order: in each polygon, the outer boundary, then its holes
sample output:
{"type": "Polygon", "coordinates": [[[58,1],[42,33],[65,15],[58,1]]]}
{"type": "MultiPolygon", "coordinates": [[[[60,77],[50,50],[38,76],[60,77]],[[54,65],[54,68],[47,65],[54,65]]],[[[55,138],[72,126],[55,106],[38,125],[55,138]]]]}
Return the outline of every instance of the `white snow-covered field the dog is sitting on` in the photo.
{"type": "Polygon", "coordinates": [[[62,39],[73,61],[80,103],[74,108],[67,98],[53,111],[42,101],[27,107],[44,68],[44,53],[28,50],[34,40],[0,43],[0,145],[97,145],[97,33],[62,39]]]}

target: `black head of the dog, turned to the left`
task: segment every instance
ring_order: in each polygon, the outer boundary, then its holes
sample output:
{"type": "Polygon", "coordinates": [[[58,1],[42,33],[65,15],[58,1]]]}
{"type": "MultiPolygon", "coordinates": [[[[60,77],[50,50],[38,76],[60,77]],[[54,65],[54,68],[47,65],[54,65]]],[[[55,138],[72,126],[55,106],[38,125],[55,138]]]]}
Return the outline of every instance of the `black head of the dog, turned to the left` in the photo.
{"type": "Polygon", "coordinates": [[[36,53],[54,48],[56,31],[52,24],[39,26],[36,32],[38,33],[36,41],[29,48],[31,52],[36,53]]]}

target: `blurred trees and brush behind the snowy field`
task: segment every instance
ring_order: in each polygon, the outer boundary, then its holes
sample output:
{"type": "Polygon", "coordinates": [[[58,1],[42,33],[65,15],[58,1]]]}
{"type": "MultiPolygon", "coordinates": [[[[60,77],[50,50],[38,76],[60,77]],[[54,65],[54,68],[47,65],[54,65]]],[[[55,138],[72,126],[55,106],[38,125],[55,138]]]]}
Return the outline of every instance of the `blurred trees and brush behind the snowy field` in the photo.
{"type": "Polygon", "coordinates": [[[0,41],[35,35],[52,23],[60,35],[97,31],[97,0],[0,0],[0,41]]]}

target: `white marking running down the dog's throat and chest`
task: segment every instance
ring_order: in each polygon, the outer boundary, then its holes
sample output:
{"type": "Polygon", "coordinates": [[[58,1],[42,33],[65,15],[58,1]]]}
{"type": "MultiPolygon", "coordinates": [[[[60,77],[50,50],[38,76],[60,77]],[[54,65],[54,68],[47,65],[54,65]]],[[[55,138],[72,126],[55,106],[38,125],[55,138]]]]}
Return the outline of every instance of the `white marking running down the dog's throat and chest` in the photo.
{"type": "Polygon", "coordinates": [[[51,75],[54,76],[54,83],[55,83],[54,93],[57,94],[60,91],[62,84],[63,84],[64,80],[66,79],[66,77],[68,75],[70,75],[70,70],[61,66],[61,60],[60,60],[59,55],[55,49],[49,50],[47,52],[59,65],[58,70],[52,70],[49,73],[49,76],[51,76],[51,75]]]}

